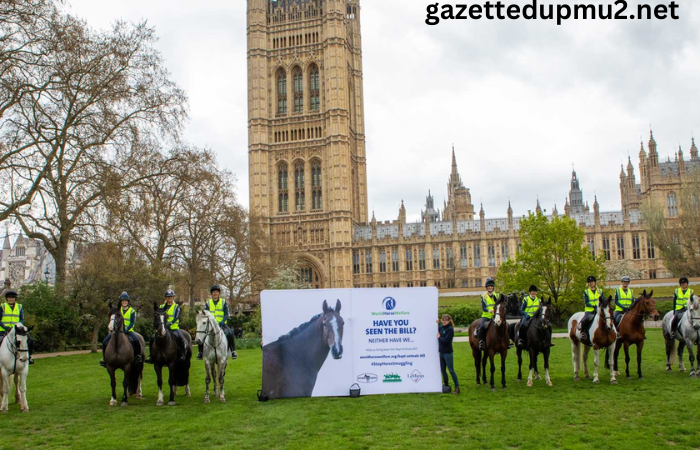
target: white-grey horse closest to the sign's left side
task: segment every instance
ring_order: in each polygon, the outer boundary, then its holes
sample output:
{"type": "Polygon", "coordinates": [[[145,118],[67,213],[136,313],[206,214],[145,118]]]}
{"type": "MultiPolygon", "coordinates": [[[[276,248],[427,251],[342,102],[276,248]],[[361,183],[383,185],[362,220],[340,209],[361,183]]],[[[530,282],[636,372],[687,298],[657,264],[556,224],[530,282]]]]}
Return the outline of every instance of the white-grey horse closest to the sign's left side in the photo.
{"type": "Polygon", "coordinates": [[[219,401],[226,402],[224,395],[224,377],[226,366],[231,352],[228,349],[226,334],[216,322],[214,315],[209,311],[197,312],[197,345],[204,344],[204,368],[207,372],[207,389],[204,394],[204,403],[209,403],[209,383],[214,379],[214,395],[219,396],[219,401]],[[218,369],[218,370],[217,370],[218,369]],[[217,375],[218,372],[218,375],[217,375]],[[219,381],[217,394],[216,382],[219,381]]]}

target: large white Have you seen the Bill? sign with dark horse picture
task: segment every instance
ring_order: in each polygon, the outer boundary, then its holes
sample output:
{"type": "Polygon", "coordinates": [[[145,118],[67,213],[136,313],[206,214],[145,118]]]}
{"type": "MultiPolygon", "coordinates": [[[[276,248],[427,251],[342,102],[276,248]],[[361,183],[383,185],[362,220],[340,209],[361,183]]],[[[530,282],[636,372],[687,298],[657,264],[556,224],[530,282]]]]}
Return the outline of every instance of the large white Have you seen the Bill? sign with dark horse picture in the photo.
{"type": "Polygon", "coordinates": [[[263,395],[440,392],[437,289],[264,291],[263,395]]]}

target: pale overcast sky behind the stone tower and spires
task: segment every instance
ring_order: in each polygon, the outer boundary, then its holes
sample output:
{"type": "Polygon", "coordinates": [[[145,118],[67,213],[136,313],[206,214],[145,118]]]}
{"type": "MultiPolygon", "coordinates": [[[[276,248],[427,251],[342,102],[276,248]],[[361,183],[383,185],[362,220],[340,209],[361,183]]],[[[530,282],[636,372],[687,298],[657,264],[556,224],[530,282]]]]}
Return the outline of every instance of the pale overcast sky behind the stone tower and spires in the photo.
{"type": "MultiPolygon", "coordinates": [[[[97,28],[118,18],[155,26],[189,95],[186,139],[216,151],[247,206],[246,2],[69,2],[97,28]]],[[[664,159],[679,145],[689,157],[693,133],[700,143],[697,0],[677,0],[680,20],[562,26],[431,27],[428,3],[361,2],[369,208],[378,220],[396,219],[401,199],[417,219],[428,189],[442,208],[453,143],[476,209],[483,202],[492,218],[505,216],[509,199],[516,215],[534,210],[538,196],[563,212],[572,163],[586,200],[595,193],[602,210],[620,209],[620,163],[631,155],[639,174],[650,124],[664,159]]]]}

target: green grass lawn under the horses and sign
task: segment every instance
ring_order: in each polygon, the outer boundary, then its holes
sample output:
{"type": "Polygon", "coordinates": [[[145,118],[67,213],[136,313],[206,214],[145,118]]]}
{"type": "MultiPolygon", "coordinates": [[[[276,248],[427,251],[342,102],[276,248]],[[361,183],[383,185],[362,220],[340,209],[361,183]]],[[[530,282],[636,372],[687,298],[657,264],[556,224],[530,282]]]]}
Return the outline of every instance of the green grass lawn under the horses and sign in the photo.
{"type": "MultiPolygon", "coordinates": [[[[508,389],[475,386],[466,343],[455,343],[460,396],[386,395],[308,398],[259,404],[261,352],[243,350],[229,365],[228,403],[202,403],[204,370],[193,362],[192,397],[156,407],[155,375],[146,367],[145,399],[108,406],[109,377],[98,355],[38,360],[28,380],[29,414],[11,399],[0,417],[3,449],[648,449],[700,448],[700,379],[664,372],[659,331],[649,333],[644,375],[610,385],[572,380],[568,340],[553,348],[552,381],[508,389]]],[[[591,355],[592,356],[592,355],[591,355]]],[[[592,360],[591,360],[592,364],[592,360]]],[[[498,373],[498,371],[497,371],[498,373]]]]}

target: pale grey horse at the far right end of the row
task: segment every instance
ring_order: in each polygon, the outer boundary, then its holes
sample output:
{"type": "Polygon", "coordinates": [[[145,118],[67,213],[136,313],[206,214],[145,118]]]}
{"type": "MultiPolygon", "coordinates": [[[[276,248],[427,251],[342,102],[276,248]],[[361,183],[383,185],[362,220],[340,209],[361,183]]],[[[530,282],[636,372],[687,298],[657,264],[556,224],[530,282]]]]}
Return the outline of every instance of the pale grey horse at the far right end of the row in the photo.
{"type": "Polygon", "coordinates": [[[678,346],[678,369],[685,372],[683,365],[683,349],[688,347],[688,358],[690,359],[690,377],[695,378],[700,376],[700,365],[695,366],[695,355],[693,354],[693,345],[697,346],[697,358],[700,363],[700,297],[695,294],[690,296],[688,300],[688,310],[683,314],[678,329],[676,330],[676,338],[671,338],[671,321],[673,320],[673,311],[669,311],[664,316],[663,333],[666,341],[666,372],[671,371],[671,365],[675,357],[676,346],[678,346]],[[680,342],[680,344],[678,344],[680,342]]]}

